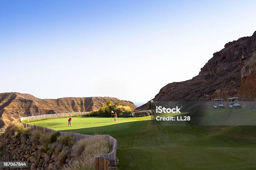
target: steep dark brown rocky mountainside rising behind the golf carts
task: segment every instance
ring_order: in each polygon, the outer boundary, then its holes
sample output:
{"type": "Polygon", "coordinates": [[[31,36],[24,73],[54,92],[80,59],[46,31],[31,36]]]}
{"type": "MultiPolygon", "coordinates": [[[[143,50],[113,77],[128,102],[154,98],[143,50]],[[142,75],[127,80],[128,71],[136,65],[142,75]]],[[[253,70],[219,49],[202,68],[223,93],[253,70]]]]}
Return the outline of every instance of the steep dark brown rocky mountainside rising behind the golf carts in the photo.
{"type": "MultiPolygon", "coordinates": [[[[199,75],[162,87],[154,101],[211,101],[240,97],[256,101],[256,32],[225,44],[201,68],[199,75]]],[[[136,110],[146,110],[148,104],[136,110]]]]}

